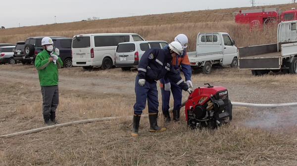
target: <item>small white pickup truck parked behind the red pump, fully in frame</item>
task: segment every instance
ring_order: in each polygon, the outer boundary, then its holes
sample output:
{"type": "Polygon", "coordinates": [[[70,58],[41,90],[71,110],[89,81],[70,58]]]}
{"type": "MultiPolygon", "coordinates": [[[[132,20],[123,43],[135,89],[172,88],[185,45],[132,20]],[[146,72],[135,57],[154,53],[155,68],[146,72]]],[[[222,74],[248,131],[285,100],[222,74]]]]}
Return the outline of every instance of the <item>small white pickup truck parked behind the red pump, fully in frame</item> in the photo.
{"type": "Polygon", "coordinates": [[[188,52],[192,68],[202,68],[209,74],[212,66],[237,67],[238,51],[228,33],[198,33],[196,52],[188,52]]]}

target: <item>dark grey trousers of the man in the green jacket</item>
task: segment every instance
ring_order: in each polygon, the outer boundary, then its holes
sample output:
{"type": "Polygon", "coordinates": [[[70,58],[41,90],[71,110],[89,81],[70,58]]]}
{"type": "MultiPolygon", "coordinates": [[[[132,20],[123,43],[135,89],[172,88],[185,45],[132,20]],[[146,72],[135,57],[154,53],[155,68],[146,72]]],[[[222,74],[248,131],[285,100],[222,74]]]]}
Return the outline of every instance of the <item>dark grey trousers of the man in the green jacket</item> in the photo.
{"type": "Polygon", "coordinates": [[[43,114],[50,115],[55,112],[59,104],[59,89],[58,86],[41,86],[43,99],[43,114]]]}

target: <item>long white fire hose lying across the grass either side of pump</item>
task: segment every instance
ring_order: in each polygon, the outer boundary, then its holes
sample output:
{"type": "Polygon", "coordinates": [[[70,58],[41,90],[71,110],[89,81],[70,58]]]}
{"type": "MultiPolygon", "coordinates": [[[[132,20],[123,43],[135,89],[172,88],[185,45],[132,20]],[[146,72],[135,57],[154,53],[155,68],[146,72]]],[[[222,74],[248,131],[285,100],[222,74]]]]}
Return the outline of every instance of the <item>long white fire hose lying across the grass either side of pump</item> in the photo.
{"type": "MultiPolygon", "coordinates": [[[[182,103],[182,107],[185,106],[186,101],[182,103]]],[[[255,104],[255,103],[245,103],[245,102],[232,102],[233,106],[239,106],[239,107],[258,107],[258,108],[276,108],[276,107],[284,107],[284,106],[297,106],[297,102],[291,102],[291,103],[280,103],[280,104],[255,104]]],[[[172,111],[170,109],[169,111],[172,111]]],[[[147,117],[148,115],[143,115],[142,117],[147,117]]],[[[74,121],[74,122],[67,122],[52,126],[46,126],[42,128],[27,130],[23,132],[17,132],[17,133],[11,133],[6,135],[0,135],[0,138],[10,138],[17,135],[26,135],[31,133],[39,133],[42,131],[50,130],[50,129],[56,129],[60,127],[66,127],[71,125],[78,125],[78,124],[85,124],[85,123],[91,123],[91,122],[101,122],[101,121],[110,121],[115,120],[119,118],[133,118],[133,116],[117,116],[117,117],[106,117],[106,118],[95,118],[95,119],[86,119],[86,120],[80,120],[80,121],[74,121]]]]}

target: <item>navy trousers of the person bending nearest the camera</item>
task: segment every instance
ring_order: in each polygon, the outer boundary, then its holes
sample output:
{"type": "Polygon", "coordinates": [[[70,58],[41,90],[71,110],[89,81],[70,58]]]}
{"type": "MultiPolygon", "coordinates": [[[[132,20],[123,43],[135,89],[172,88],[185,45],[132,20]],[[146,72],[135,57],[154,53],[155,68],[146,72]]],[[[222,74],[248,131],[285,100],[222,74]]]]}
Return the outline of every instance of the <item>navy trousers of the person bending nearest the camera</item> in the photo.
{"type": "Polygon", "coordinates": [[[136,103],[134,104],[134,114],[140,115],[146,108],[146,102],[148,100],[148,113],[158,113],[158,90],[157,82],[153,81],[149,83],[146,81],[145,86],[140,86],[138,84],[138,76],[135,79],[135,94],[136,103]]]}

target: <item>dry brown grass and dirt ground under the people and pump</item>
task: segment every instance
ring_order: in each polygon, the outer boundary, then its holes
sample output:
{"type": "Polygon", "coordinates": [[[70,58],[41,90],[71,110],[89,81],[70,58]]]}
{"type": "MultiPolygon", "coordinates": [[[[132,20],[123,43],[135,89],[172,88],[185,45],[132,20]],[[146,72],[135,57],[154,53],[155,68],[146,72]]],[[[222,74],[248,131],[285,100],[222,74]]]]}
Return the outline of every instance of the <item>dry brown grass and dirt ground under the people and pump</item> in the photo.
{"type": "MultiPolygon", "coordinates": [[[[133,115],[137,71],[73,67],[59,74],[59,123],[133,115]]],[[[192,79],[195,87],[228,88],[232,101],[297,102],[297,75],[254,77],[221,67],[210,75],[194,71],[192,79]]],[[[41,98],[33,66],[1,65],[0,135],[45,126],[41,98]]],[[[214,131],[189,130],[181,116],[157,134],[148,133],[148,119],[142,118],[138,138],[130,136],[128,118],[2,138],[0,166],[297,166],[296,107],[234,107],[232,123],[214,131]]],[[[162,118],[159,125],[165,125],[162,118]]]]}

